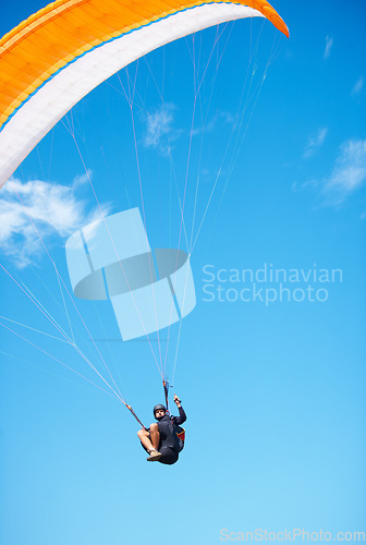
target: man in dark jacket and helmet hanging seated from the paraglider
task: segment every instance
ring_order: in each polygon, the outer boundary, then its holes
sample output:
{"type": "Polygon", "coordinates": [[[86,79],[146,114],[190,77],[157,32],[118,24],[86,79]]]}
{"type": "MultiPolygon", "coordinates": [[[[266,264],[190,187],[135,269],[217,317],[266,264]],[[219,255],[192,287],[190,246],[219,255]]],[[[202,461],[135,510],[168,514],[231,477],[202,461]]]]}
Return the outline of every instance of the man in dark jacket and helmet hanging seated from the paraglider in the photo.
{"type": "Polygon", "coordinates": [[[171,465],[179,458],[182,448],[174,426],[183,424],[186,421],[186,415],[181,405],[181,400],[175,393],[174,403],[179,409],[179,416],[169,416],[164,405],[155,405],[154,416],[158,423],[151,424],[149,431],[139,429],[137,432],[144,449],[149,453],[147,458],[149,462],[159,461],[171,465]]]}

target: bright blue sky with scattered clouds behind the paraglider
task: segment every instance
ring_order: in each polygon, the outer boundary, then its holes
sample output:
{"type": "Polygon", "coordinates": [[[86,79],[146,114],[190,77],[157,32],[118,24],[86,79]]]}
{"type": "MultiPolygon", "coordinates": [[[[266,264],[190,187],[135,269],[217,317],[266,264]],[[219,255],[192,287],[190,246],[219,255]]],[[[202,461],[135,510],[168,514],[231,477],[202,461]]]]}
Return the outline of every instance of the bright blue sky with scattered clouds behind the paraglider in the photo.
{"type": "MultiPolygon", "coordinates": [[[[2,543],[205,545],[221,543],[222,529],[366,531],[366,12],[361,0],[273,5],[289,40],[268,22],[242,21],[220,27],[211,57],[216,28],[150,53],[76,105],[1,190],[1,264],[17,282],[1,269],[0,324],[12,329],[0,328],[2,543]],[[192,59],[197,80],[205,74],[193,125],[192,59]],[[50,337],[60,334],[23,291],[101,372],[28,216],[71,291],[65,240],[100,214],[89,179],[105,214],[142,208],[133,89],[150,244],[178,246],[185,179],[190,249],[196,240],[197,305],[182,323],[174,379],[187,441],[171,468],[146,463],[129,411],[50,337]],[[243,269],[253,281],[237,280],[243,269]],[[284,270],[282,301],[274,269],[284,270]],[[277,301],[266,304],[266,293],[277,301]]],[[[1,7],[1,35],[41,7],[1,7]]],[[[149,423],[162,401],[149,343],[120,341],[108,303],[74,302],[149,423]]]]}

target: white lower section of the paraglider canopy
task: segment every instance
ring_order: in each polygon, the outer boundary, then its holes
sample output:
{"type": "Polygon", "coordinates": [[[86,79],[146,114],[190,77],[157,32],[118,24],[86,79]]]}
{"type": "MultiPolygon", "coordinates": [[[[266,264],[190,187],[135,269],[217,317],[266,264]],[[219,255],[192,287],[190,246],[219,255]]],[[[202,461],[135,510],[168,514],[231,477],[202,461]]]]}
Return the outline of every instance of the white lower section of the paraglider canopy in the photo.
{"type": "Polygon", "coordinates": [[[264,15],[240,4],[204,4],[149,24],[77,58],[32,95],[0,132],[0,187],[52,126],[112,74],[164,44],[219,23],[253,16],[264,15]]]}

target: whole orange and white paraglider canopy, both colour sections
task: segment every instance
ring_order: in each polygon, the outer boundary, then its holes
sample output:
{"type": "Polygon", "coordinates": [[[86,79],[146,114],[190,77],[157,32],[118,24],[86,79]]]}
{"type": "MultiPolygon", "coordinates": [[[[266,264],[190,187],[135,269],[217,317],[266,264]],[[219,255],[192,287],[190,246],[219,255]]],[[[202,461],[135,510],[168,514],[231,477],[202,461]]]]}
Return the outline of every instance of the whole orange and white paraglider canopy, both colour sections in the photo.
{"type": "Polygon", "coordinates": [[[289,36],[266,0],[58,0],[0,40],[0,187],[85,95],[149,51],[203,28],[263,16],[289,36]]]}

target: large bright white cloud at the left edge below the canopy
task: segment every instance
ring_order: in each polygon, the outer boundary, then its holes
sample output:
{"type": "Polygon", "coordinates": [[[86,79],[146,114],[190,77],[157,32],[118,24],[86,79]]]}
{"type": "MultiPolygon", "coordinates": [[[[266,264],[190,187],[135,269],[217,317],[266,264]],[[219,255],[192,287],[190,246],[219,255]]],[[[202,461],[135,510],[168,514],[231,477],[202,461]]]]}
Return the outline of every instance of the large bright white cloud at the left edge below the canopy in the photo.
{"type": "MultiPolygon", "coordinates": [[[[63,239],[100,218],[99,209],[77,196],[82,182],[83,177],[77,177],[71,186],[16,179],[4,184],[0,192],[0,249],[19,268],[37,262],[44,252],[40,238],[48,245],[54,243],[54,235],[63,239]]],[[[102,208],[108,214],[109,206],[102,208]]]]}

